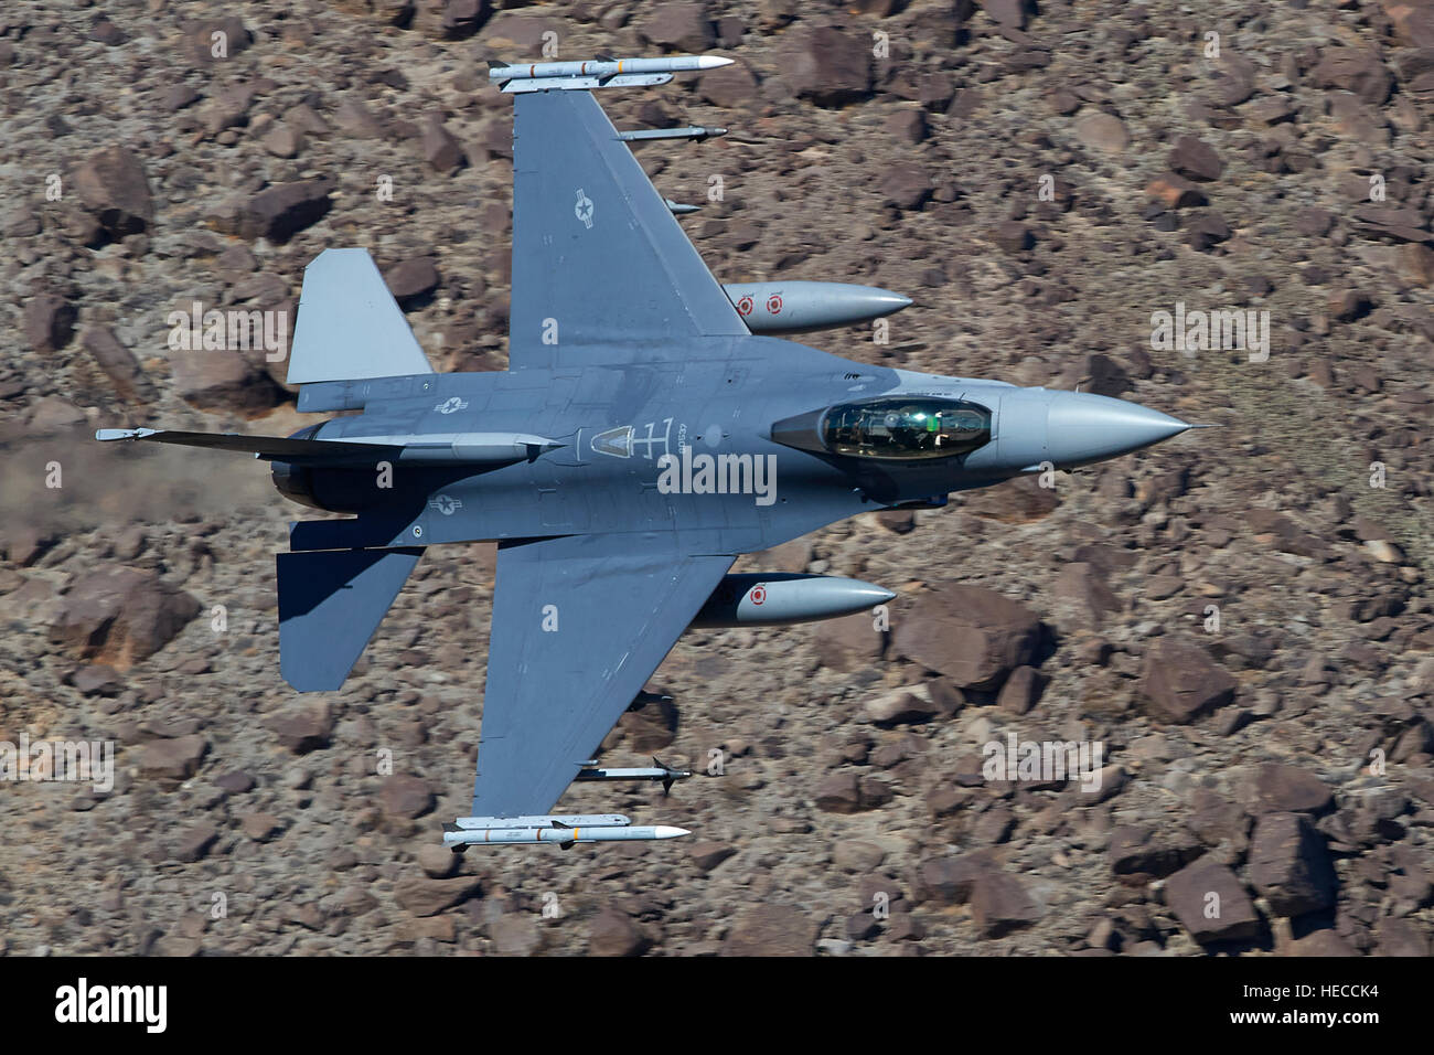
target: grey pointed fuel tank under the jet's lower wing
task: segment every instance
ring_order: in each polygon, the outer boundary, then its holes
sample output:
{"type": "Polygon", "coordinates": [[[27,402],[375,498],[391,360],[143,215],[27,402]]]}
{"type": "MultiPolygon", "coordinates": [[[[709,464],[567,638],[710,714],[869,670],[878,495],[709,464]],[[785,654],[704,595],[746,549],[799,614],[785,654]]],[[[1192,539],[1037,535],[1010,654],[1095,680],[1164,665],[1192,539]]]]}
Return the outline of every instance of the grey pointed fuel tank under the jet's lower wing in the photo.
{"type": "Polygon", "coordinates": [[[694,627],[789,626],[850,616],[896,594],[859,578],[799,573],[726,576],[703,604],[694,627]]]}

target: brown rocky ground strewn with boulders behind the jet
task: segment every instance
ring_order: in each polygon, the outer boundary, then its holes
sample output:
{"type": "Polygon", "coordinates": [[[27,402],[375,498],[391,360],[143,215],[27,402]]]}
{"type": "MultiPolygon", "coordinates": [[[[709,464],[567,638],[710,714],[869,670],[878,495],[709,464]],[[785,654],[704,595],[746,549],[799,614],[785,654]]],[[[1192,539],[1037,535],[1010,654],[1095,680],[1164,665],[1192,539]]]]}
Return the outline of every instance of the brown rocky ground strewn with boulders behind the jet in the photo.
{"type": "Polygon", "coordinates": [[[0,785],[0,950],[1428,955],[1434,4],[492,7],[0,11],[0,741],[119,752],[103,794],[0,785]],[[889,630],[683,639],[605,748],[703,775],[565,805],[691,838],[453,858],[490,547],[432,551],[298,698],[297,507],[85,436],[298,428],[282,362],[171,352],[166,316],[293,311],[328,245],[370,247],[437,369],[503,367],[483,63],[545,43],[737,59],[602,102],[733,129],[640,148],[720,278],[916,299],[889,343],[804,340],[1223,428],[753,555],[898,590],[889,630]],[[1152,347],[1177,301],[1268,311],[1268,359],[1152,347]],[[1098,789],[988,779],[1008,733],[1098,742],[1098,789]]]}

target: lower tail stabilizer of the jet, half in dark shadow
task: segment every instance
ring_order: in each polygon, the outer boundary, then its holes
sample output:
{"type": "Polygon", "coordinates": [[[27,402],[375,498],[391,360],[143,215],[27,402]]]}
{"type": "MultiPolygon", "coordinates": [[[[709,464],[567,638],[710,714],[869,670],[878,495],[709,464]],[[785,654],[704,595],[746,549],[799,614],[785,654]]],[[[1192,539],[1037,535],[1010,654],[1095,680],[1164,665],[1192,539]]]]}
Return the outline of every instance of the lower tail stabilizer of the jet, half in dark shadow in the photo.
{"type": "Polygon", "coordinates": [[[343,686],[422,555],[423,547],[275,554],[284,680],[300,692],[343,686]]]}

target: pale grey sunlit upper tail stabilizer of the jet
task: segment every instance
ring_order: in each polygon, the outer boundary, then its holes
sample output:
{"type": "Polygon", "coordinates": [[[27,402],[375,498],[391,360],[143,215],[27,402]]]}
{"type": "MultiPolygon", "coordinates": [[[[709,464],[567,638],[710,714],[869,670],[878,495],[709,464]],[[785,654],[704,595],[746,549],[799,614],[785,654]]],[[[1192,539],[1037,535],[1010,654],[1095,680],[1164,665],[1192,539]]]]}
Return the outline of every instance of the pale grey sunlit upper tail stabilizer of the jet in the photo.
{"type": "Polygon", "coordinates": [[[304,268],[288,383],[433,373],[369,250],[324,250],[304,268]]]}

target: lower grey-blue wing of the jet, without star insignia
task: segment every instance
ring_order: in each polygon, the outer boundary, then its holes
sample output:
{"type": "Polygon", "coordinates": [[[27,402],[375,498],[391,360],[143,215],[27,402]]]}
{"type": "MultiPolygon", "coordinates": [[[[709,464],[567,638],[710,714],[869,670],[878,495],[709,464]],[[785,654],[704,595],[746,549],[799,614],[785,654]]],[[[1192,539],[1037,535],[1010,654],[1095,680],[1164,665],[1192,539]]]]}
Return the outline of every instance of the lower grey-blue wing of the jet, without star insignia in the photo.
{"type": "Polygon", "coordinates": [[[640,547],[499,547],[475,817],[552,810],[734,560],[640,547]]]}

